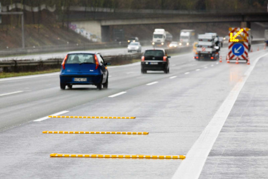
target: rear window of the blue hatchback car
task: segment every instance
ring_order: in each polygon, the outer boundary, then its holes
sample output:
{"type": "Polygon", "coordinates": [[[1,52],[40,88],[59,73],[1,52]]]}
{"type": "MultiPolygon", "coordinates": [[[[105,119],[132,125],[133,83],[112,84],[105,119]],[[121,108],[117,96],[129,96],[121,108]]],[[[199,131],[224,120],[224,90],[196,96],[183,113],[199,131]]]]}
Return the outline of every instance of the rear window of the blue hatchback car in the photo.
{"type": "Polygon", "coordinates": [[[93,63],[95,64],[94,54],[69,54],[67,64],[93,63]]]}

